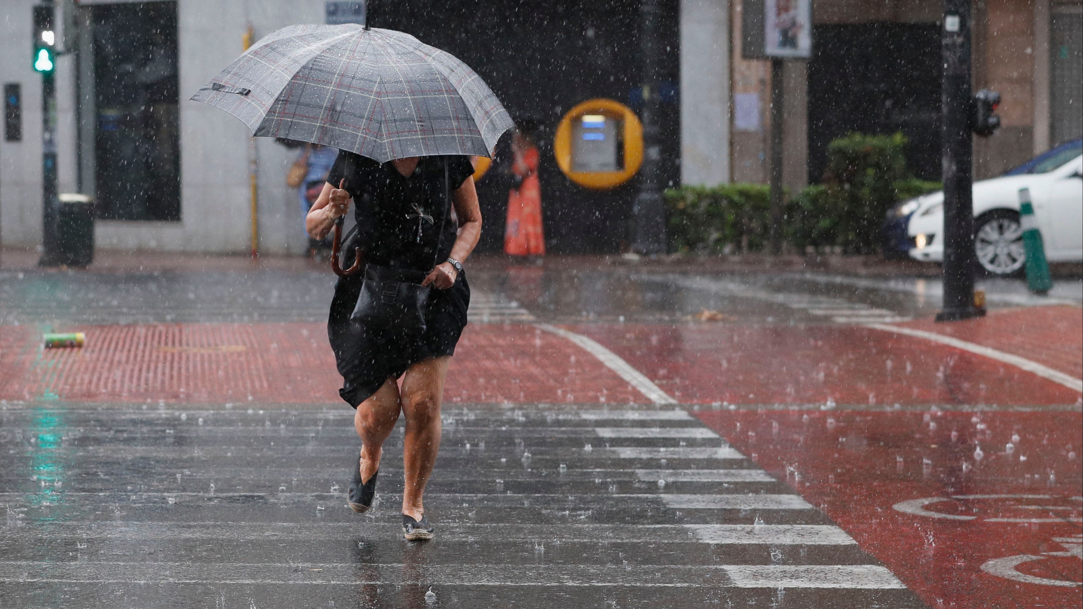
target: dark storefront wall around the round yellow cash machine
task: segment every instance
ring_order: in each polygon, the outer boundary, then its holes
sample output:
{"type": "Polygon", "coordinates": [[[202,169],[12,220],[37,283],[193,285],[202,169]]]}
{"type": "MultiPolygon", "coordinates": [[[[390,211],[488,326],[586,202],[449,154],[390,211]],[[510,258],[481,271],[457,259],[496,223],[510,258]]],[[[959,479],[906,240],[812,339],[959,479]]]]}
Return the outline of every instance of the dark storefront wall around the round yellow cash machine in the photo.
{"type": "MultiPolygon", "coordinates": [[[[664,3],[662,155],[665,180],[680,176],[678,7],[664,3]]],[[[637,180],[612,191],[573,184],[557,167],[552,137],[575,104],[609,98],[639,109],[640,5],[636,0],[462,3],[406,0],[381,3],[377,27],[400,29],[444,49],[474,68],[516,120],[542,125],[543,209],[552,252],[616,252],[626,248],[637,180]]],[[[485,228],[481,251],[503,248],[507,193],[508,137],[493,168],[479,183],[485,228]]]]}

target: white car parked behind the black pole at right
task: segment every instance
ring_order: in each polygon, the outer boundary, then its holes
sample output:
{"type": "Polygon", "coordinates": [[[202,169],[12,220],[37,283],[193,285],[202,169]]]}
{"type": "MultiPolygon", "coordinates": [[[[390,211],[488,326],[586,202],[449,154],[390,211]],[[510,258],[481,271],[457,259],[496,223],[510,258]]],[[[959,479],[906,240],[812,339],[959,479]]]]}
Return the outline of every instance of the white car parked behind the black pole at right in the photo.
{"type": "MultiPolygon", "coordinates": [[[[974,250],[986,272],[1012,275],[1026,262],[1019,225],[1020,189],[1030,189],[1045,258],[1051,262],[1083,260],[1083,156],[1057,165],[1046,171],[1038,167],[1033,173],[974,183],[974,250]]],[[[943,261],[943,200],[940,191],[902,204],[913,209],[906,226],[914,244],[912,258],[943,261]]]]}

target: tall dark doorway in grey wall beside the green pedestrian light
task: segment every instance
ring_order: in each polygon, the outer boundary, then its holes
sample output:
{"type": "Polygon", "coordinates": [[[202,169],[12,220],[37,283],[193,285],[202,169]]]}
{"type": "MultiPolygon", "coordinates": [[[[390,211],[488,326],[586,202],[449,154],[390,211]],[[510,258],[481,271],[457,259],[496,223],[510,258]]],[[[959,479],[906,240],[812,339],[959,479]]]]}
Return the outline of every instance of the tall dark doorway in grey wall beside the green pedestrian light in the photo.
{"type": "Polygon", "coordinates": [[[97,215],[181,219],[177,2],[91,7],[97,215]]]}

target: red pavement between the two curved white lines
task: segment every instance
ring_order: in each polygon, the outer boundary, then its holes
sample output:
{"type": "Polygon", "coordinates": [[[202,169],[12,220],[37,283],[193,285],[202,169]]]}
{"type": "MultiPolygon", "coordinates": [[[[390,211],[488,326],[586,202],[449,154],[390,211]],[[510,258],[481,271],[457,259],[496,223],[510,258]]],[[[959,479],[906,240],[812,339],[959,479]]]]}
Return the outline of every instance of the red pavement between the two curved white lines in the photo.
{"type": "Polygon", "coordinates": [[[982,355],[857,326],[590,324],[682,403],[1074,404],[1080,393],[982,355]]]}

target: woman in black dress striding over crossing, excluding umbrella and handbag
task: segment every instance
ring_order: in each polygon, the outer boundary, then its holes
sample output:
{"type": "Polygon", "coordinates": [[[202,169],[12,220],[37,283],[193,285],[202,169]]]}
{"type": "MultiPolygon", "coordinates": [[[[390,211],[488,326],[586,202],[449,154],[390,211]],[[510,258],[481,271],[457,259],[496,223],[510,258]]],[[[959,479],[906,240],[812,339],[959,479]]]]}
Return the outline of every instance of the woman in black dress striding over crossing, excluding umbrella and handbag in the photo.
{"type": "Polygon", "coordinates": [[[354,202],[354,217],[362,229],[347,250],[361,247],[367,264],[422,272],[421,285],[435,287],[427,304],[426,328],[419,336],[351,320],[361,295],[361,275],[339,280],[327,323],[344,379],[339,393],[356,409],[353,423],[362,441],[350,484],[350,507],[363,513],[371,506],[383,442],[402,413],[406,417],[402,513],[407,540],[432,539],[433,527],[425,518],[422,498],[440,448],[440,405],[447,365],[467,323],[470,287],[462,262],[481,235],[472,173],[467,156],[412,157],[380,164],[342,152],[308,216],[309,234],[323,239],[354,202]],[[445,179],[451,202],[443,199],[445,179]],[[458,226],[447,221],[452,205],[458,226]],[[435,265],[434,260],[439,262],[435,265]]]}

